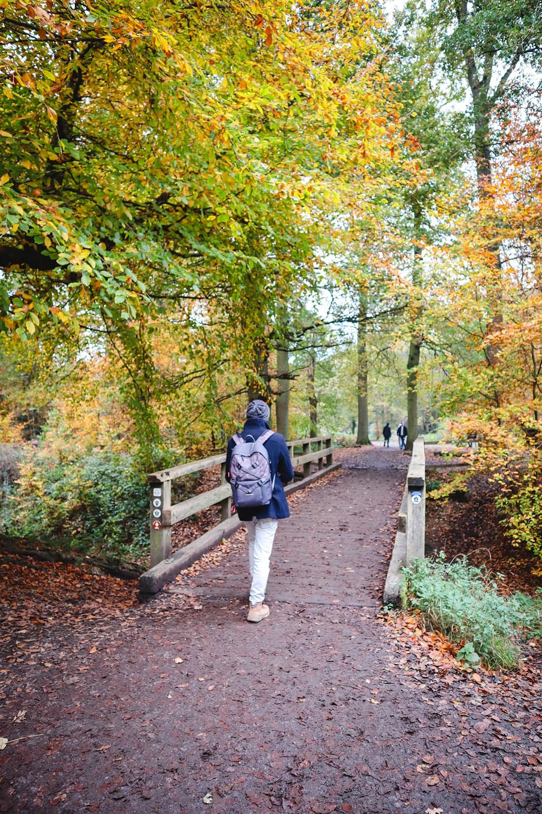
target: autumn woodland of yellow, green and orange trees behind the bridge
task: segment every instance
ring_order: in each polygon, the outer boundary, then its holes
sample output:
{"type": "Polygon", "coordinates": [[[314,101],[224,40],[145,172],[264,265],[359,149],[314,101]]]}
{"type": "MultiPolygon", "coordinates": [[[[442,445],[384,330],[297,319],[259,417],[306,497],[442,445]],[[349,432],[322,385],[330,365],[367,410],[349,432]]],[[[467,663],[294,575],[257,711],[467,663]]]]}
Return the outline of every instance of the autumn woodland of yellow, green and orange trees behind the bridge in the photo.
{"type": "Polygon", "coordinates": [[[540,11],[0,0],[0,532],[141,551],[261,396],[476,433],[542,558],[540,11]]]}

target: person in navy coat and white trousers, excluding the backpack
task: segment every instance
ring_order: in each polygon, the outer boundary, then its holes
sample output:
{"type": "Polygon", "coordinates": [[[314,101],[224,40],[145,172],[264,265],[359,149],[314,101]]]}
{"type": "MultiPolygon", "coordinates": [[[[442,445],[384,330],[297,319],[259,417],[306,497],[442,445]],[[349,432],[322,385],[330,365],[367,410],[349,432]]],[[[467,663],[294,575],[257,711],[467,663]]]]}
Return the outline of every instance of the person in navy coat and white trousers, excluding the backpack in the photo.
{"type": "MultiPolygon", "coordinates": [[[[251,401],[246,409],[246,421],[240,435],[246,440],[258,440],[266,430],[269,430],[269,417],[271,410],[261,399],[251,401]]],[[[226,479],[230,480],[230,462],[235,441],[228,441],[226,453],[226,479]]],[[[293,466],[290,461],[288,447],[284,435],[274,432],[264,442],[269,455],[271,466],[271,480],[275,478],[271,503],[269,505],[254,506],[250,509],[238,510],[239,519],[247,527],[249,538],[249,570],[252,578],[249,596],[249,622],[261,622],[269,615],[269,606],[263,601],[269,577],[269,561],[275,540],[275,533],[280,519],[290,516],[288,501],[284,493],[284,484],[293,479],[293,466]]]]}

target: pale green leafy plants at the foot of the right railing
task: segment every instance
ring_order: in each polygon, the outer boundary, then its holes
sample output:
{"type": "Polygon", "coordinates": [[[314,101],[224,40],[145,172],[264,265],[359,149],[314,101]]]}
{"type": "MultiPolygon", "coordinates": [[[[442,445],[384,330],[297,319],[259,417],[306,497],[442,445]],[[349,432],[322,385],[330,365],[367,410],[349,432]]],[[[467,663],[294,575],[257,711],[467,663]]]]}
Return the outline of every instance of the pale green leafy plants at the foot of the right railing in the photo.
{"type": "Polygon", "coordinates": [[[519,641],[542,637],[542,590],[536,596],[499,592],[500,574],[470,566],[465,557],[445,562],[417,560],[405,568],[404,602],[421,611],[429,628],[462,646],[457,654],[470,666],[480,659],[488,667],[511,669],[520,660],[519,641]]]}

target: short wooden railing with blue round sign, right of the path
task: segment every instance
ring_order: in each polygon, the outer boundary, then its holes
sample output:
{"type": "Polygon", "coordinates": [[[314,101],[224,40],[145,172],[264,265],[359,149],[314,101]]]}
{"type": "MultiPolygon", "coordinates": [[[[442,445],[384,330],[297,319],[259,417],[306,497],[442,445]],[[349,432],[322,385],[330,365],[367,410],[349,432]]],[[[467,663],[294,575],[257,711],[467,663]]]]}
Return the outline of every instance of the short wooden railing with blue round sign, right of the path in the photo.
{"type": "Polygon", "coordinates": [[[401,596],[401,570],[425,556],[425,447],[423,437],[414,441],[399,510],[397,534],[384,586],[384,605],[397,605],[401,596]]]}

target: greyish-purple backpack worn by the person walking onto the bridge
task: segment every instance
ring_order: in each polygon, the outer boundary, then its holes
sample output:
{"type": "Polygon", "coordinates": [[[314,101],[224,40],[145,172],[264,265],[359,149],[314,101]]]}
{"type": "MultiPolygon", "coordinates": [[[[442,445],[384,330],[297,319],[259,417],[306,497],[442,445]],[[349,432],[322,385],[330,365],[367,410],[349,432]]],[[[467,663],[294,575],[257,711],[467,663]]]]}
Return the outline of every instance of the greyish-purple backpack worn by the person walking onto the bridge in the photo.
{"type": "Polygon", "coordinates": [[[230,461],[230,485],[233,505],[238,509],[271,503],[275,478],[271,480],[269,455],[263,446],[271,435],[274,435],[272,430],[266,430],[255,440],[254,435],[248,435],[252,441],[239,434],[233,436],[235,446],[230,461]]]}

